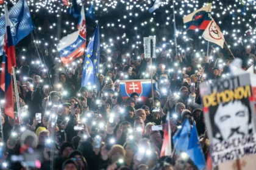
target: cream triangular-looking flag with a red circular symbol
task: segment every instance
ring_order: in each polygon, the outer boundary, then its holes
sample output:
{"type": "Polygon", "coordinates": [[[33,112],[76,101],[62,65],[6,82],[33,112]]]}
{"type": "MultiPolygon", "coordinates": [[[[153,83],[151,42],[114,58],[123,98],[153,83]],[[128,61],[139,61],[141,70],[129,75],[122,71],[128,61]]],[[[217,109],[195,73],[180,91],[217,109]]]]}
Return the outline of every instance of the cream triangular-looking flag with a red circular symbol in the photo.
{"type": "Polygon", "coordinates": [[[207,41],[221,46],[223,49],[225,38],[213,18],[212,21],[208,24],[207,28],[204,30],[202,37],[207,41]]]}

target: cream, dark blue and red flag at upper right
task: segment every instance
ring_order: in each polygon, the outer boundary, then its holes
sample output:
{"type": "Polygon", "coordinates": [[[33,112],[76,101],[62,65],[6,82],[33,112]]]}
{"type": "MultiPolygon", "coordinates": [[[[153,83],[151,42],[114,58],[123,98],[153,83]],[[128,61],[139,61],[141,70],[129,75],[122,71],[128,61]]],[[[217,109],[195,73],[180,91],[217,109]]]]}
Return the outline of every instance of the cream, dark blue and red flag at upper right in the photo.
{"type": "Polygon", "coordinates": [[[209,4],[205,7],[202,7],[199,10],[196,10],[193,13],[190,13],[189,15],[185,16],[183,18],[183,22],[185,24],[185,27],[188,30],[204,30],[206,29],[207,25],[212,20],[210,18],[210,12],[212,12],[212,4],[209,4]]]}

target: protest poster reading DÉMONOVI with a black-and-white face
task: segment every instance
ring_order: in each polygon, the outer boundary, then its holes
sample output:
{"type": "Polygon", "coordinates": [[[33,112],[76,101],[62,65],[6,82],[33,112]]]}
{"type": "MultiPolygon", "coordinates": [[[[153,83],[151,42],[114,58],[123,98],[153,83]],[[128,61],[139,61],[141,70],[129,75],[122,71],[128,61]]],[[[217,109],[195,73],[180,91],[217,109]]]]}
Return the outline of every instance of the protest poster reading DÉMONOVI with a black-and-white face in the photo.
{"type": "Polygon", "coordinates": [[[249,73],[202,83],[200,92],[213,165],[256,154],[249,73]]]}

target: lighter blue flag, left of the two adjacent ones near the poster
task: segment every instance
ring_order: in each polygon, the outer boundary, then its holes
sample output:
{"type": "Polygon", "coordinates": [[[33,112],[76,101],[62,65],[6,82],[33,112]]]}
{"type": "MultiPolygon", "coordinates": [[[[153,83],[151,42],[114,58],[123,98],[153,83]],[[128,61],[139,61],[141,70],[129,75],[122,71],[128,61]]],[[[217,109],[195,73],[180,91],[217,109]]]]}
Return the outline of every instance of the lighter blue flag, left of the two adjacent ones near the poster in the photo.
{"type": "Polygon", "coordinates": [[[187,119],[182,123],[182,127],[172,137],[175,149],[187,152],[189,143],[188,135],[190,134],[190,131],[190,121],[187,119]]]}

